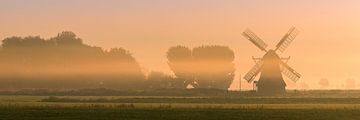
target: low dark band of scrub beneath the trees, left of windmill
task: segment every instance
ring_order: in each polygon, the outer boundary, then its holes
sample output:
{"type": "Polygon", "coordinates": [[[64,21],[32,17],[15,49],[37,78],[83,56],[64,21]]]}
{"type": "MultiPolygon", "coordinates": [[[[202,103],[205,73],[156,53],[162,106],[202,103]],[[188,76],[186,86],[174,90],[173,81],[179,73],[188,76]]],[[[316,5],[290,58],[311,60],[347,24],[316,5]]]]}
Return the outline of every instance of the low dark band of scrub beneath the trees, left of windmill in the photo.
{"type": "MultiPolygon", "coordinates": [[[[143,88],[145,89],[145,88],[143,88]]],[[[219,89],[174,89],[153,88],[145,90],[123,90],[123,89],[21,89],[13,91],[0,91],[0,95],[30,95],[30,96],[227,96],[235,95],[237,92],[227,92],[219,89]]],[[[243,92],[241,95],[250,95],[243,92]]]]}

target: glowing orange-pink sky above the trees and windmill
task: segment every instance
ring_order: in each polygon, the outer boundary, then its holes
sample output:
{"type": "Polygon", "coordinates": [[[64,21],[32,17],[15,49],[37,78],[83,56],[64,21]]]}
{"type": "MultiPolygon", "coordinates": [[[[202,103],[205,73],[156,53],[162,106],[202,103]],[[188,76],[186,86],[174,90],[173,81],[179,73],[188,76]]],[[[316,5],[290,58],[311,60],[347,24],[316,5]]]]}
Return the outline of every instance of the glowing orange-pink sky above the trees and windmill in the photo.
{"type": "MultiPolygon", "coordinates": [[[[170,46],[226,45],[236,53],[237,74],[262,56],[241,36],[252,29],[275,45],[291,26],[301,33],[281,56],[318,88],[346,79],[360,83],[360,1],[358,0],[1,0],[0,39],[51,37],[69,30],[106,49],[124,47],[145,71],[170,72],[170,46]]],[[[359,86],[359,85],[357,85],[359,86]]]]}

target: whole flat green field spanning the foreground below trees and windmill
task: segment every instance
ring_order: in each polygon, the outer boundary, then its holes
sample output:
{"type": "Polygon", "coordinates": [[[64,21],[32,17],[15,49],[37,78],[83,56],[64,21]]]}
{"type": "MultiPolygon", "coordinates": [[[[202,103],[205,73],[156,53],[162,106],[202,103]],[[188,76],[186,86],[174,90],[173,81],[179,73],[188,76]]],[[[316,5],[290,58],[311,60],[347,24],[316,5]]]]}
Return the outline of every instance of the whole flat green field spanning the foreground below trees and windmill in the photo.
{"type": "Polygon", "coordinates": [[[0,119],[359,120],[360,95],[354,91],[341,93],[208,97],[2,95],[0,119]]]}

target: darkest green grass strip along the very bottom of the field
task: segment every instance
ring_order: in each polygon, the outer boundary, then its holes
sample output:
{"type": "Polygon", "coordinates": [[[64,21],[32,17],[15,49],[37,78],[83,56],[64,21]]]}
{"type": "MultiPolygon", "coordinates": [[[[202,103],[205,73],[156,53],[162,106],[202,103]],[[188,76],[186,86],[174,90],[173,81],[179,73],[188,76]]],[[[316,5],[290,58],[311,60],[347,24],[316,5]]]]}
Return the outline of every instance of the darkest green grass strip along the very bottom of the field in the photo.
{"type": "Polygon", "coordinates": [[[360,119],[359,109],[266,109],[266,108],[121,108],[93,106],[1,106],[0,118],[15,119],[129,119],[129,120],[351,120],[360,119]]]}

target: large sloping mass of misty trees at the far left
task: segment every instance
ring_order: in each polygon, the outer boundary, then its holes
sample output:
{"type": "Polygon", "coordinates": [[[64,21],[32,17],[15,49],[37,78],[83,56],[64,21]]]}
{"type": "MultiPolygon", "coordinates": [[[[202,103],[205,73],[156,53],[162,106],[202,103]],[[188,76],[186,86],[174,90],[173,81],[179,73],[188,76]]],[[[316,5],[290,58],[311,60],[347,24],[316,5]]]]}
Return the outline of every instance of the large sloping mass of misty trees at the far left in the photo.
{"type": "Polygon", "coordinates": [[[138,89],[145,77],[123,48],[103,50],[72,32],[56,37],[10,37],[0,49],[0,88],[138,89]]]}

